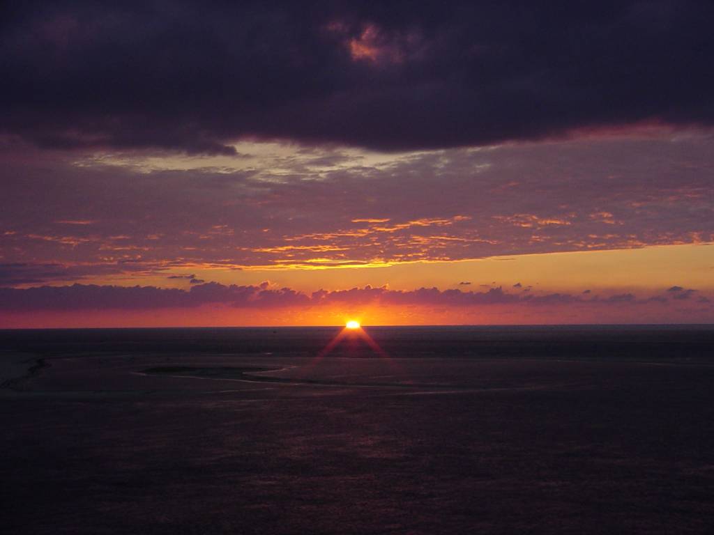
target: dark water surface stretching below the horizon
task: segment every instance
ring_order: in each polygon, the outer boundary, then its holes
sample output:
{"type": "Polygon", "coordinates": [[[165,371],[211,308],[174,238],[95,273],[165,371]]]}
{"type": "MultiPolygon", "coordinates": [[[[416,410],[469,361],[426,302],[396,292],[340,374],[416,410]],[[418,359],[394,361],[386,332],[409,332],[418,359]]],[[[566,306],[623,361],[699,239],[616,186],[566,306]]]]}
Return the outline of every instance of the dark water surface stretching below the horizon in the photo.
{"type": "Polygon", "coordinates": [[[712,327],[338,332],[0,331],[1,529],[714,532],[712,327]]]}

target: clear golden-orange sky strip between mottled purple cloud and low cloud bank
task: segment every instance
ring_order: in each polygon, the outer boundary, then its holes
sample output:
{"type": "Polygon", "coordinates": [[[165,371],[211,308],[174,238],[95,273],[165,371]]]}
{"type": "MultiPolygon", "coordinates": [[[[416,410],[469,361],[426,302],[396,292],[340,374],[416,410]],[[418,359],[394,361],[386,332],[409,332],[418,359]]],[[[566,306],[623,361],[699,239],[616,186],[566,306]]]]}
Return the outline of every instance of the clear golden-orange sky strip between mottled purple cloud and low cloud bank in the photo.
{"type": "MultiPolygon", "coordinates": [[[[655,245],[645,248],[569,251],[503,255],[463,260],[418,260],[367,265],[291,267],[288,265],[215,265],[186,264],[167,267],[153,275],[137,274],[68,277],[44,282],[51,286],[95,284],[118,286],[159,286],[186,288],[188,281],[171,275],[193,273],[197,278],[224,285],[272,285],[291,287],[301,292],[343,290],[350,287],[381,287],[413,290],[418,287],[469,287],[481,284],[511,287],[517,282],[533,285],[541,291],[580,292],[612,290],[615,292],[651,292],[683,285],[698,290],[714,290],[714,244],[655,245]]],[[[36,283],[19,284],[26,288],[36,283]]],[[[329,325],[329,324],[326,324],[329,325]]]]}

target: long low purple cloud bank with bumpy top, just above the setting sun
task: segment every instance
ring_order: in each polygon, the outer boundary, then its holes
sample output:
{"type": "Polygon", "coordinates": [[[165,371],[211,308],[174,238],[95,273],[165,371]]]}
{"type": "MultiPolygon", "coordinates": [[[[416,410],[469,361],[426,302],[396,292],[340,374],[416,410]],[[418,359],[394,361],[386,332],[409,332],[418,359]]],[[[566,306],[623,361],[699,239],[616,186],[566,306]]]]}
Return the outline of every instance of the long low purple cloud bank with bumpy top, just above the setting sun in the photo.
{"type": "MultiPolygon", "coordinates": [[[[693,290],[688,290],[693,291],[693,290]]],[[[676,297],[675,297],[676,298],[676,297]]],[[[578,295],[551,293],[516,295],[501,287],[483,292],[439,290],[389,290],[387,287],[354,287],[350,290],[318,290],[307,295],[291,288],[261,285],[221,285],[196,282],[188,290],[153,286],[41,286],[26,289],[0,287],[0,310],[9,312],[69,310],[156,310],[226,305],[238,308],[278,309],[289,307],[354,306],[366,304],[420,307],[560,306],[560,305],[644,305],[663,304],[665,297],[638,299],[632,293],[605,299],[583,299],[578,295]]],[[[700,300],[700,302],[708,302],[700,300]]]]}

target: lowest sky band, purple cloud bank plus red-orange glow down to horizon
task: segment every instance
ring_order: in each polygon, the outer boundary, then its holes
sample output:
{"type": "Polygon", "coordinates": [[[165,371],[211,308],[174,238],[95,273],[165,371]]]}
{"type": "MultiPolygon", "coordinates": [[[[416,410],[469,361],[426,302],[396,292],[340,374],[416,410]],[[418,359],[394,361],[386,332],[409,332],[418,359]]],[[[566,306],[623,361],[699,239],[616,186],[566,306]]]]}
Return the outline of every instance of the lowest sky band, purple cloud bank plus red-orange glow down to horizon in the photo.
{"type": "Polygon", "coordinates": [[[339,325],[357,317],[366,325],[428,322],[570,323],[708,322],[712,298],[698,290],[669,287],[650,295],[586,291],[531,293],[530,289],[389,290],[353,287],[304,293],[270,282],[261,285],[192,285],[188,290],[153,286],[71,285],[0,288],[0,323],[13,327],[116,325],[339,325]],[[208,318],[208,320],[207,320],[208,318]],[[631,320],[629,322],[632,322],[631,320]]]}

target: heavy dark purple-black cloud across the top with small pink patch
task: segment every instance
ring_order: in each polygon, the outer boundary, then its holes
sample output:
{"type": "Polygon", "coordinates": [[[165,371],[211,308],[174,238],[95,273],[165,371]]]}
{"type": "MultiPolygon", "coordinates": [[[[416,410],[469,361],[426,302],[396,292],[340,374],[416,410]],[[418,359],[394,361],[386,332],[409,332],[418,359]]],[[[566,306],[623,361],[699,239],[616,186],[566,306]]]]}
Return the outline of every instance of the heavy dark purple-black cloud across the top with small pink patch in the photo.
{"type": "Polygon", "coordinates": [[[441,148],[714,121],[698,0],[0,8],[0,129],[51,148],[441,148]]]}

